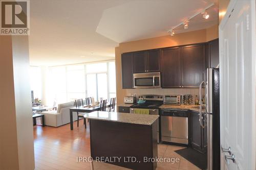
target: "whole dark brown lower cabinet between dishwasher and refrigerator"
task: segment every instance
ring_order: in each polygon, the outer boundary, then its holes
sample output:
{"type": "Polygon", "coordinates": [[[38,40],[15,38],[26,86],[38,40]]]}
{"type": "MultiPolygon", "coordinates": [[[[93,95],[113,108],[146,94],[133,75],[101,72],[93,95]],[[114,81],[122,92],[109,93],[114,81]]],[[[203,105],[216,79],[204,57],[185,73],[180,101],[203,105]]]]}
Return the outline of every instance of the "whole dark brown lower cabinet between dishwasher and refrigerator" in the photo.
{"type": "Polygon", "coordinates": [[[190,115],[190,146],[205,153],[207,151],[207,127],[199,124],[199,112],[189,110],[190,115]]]}

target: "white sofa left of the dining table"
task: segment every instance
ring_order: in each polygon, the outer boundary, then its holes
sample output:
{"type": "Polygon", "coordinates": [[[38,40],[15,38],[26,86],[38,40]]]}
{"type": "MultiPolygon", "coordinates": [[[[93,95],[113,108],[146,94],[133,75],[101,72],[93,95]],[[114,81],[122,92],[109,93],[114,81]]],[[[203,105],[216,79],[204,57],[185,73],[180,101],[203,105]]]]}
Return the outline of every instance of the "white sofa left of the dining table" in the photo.
{"type": "MultiPolygon", "coordinates": [[[[70,123],[69,108],[74,107],[74,102],[59,104],[57,110],[45,111],[45,125],[59,127],[70,123]]],[[[73,112],[73,121],[77,120],[77,113],[73,112]]]]}

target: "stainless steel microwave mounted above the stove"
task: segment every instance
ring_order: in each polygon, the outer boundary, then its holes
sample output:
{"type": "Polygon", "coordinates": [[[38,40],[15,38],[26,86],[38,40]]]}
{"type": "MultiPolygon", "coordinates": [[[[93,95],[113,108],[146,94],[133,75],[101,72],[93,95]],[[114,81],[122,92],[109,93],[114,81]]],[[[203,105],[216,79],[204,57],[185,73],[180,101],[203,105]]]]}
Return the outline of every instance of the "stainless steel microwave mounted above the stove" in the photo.
{"type": "Polygon", "coordinates": [[[161,88],[160,72],[133,74],[134,88],[161,88]]]}

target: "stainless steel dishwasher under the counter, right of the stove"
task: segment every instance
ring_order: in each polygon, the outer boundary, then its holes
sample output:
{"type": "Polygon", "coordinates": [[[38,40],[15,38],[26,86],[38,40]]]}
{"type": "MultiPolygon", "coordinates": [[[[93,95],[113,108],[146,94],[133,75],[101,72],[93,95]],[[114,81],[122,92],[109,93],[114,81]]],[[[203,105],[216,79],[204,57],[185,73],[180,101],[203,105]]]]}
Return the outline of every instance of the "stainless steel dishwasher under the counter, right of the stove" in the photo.
{"type": "Polygon", "coordinates": [[[187,110],[161,110],[162,141],[188,144],[187,110]]]}

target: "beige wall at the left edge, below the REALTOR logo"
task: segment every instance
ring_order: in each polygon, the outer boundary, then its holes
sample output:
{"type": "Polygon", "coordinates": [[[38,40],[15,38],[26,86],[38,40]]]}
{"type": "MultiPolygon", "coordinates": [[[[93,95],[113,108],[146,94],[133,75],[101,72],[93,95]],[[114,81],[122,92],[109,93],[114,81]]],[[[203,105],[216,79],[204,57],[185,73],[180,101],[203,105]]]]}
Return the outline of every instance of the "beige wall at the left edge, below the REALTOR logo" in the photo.
{"type": "Polygon", "coordinates": [[[0,36],[0,169],[34,169],[27,36],[0,36]]]}

